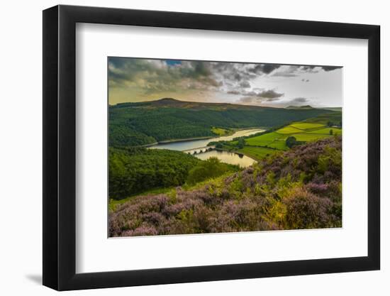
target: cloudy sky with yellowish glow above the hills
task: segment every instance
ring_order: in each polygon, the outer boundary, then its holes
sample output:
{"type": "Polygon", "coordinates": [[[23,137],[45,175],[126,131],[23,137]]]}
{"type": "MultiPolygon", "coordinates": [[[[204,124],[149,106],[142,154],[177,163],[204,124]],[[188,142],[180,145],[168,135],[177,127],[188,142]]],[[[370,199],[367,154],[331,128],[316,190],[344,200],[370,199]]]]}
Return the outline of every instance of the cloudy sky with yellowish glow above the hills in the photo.
{"type": "Polygon", "coordinates": [[[108,102],[341,106],[342,67],[108,57],[108,102]]]}

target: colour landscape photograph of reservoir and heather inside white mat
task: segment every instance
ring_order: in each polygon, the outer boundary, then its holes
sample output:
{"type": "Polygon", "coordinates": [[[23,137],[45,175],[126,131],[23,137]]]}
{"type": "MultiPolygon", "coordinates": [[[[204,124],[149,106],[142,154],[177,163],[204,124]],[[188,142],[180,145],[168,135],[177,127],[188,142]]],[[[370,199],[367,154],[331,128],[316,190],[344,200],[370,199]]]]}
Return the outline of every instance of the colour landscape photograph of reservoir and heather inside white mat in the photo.
{"type": "Polygon", "coordinates": [[[108,57],[108,236],[342,227],[342,67],[108,57]]]}

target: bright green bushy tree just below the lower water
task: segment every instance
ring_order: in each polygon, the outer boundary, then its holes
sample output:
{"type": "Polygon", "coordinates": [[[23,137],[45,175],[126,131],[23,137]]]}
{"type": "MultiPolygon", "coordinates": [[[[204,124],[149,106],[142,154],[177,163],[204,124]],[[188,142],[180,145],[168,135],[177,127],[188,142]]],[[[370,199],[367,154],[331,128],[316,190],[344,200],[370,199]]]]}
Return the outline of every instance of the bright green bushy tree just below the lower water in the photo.
{"type": "Polygon", "coordinates": [[[208,158],[208,160],[201,161],[194,168],[189,170],[187,177],[187,183],[194,185],[197,182],[218,177],[226,172],[234,172],[240,168],[237,165],[228,165],[227,163],[221,163],[218,158],[208,158]]]}

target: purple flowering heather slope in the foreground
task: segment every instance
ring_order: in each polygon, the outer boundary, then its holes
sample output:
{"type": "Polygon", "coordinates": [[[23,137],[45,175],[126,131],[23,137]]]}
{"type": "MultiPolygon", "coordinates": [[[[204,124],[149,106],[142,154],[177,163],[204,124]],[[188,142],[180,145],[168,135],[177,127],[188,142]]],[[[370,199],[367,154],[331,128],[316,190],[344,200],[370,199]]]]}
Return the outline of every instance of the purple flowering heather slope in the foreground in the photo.
{"type": "Polygon", "coordinates": [[[340,227],[341,148],[326,138],[190,190],[134,197],[110,213],[110,236],[340,227]]]}

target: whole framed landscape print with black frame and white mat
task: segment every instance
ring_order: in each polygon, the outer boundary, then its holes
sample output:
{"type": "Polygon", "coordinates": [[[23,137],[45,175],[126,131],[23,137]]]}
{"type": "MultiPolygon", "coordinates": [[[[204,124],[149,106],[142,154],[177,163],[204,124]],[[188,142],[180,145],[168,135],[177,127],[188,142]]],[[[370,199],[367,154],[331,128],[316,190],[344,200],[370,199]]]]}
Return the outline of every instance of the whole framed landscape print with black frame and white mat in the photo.
{"type": "Polygon", "coordinates": [[[43,11],[43,284],[377,270],[379,26],[43,11]]]}

